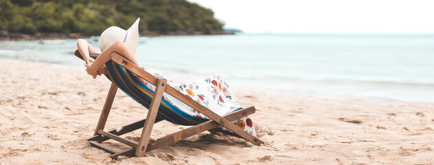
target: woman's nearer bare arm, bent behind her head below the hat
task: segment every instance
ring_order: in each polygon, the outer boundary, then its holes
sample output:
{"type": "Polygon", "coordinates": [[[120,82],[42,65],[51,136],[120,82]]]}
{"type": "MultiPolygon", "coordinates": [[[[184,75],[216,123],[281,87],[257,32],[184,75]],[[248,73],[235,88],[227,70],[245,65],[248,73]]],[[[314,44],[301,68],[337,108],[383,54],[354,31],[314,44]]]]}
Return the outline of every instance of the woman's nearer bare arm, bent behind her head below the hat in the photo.
{"type": "MultiPolygon", "coordinates": [[[[111,53],[117,52],[118,54],[122,54],[129,61],[133,62],[135,65],[139,65],[137,60],[134,58],[134,54],[128,50],[125,43],[122,41],[116,41],[107,47],[104,51],[101,52],[100,56],[93,61],[93,63],[87,65],[87,74],[91,75],[93,78],[96,78],[98,75],[98,69],[104,65],[107,61],[110,61],[111,53]]],[[[80,52],[81,53],[81,52],[80,52]]],[[[84,56],[84,55],[82,55],[84,56]]],[[[89,56],[89,54],[87,54],[89,56]]]]}

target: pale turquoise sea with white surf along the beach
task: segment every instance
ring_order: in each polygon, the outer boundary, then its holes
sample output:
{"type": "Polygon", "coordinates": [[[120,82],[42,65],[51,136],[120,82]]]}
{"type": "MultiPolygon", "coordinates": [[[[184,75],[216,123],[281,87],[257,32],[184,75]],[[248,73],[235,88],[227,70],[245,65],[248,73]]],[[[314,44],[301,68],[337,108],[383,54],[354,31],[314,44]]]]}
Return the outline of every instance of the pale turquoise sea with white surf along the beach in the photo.
{"type": "MultiPolygon", "coordinates": [[[[434,35],[238,34],[142,40],[139,63],[180,83],[218,74],[233,89],[434,102],[434,35]]],[[[57,45],[0,41],[0,58],[84,69],[74,50],[73,39],[57,45]]]]}

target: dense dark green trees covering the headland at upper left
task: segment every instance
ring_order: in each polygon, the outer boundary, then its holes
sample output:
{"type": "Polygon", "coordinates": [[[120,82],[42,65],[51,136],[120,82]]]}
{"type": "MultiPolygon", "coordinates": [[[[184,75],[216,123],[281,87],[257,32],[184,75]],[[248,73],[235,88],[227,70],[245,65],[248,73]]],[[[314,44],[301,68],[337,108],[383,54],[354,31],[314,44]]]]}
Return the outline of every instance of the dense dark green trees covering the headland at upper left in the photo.
{"type": "Polygon", "coordinates": [[[185,0],[0,0],[0,30],[13,33],[99,35],[137,17],[139,32],[209,34],[223,26],[212,10],[185,0]]]}

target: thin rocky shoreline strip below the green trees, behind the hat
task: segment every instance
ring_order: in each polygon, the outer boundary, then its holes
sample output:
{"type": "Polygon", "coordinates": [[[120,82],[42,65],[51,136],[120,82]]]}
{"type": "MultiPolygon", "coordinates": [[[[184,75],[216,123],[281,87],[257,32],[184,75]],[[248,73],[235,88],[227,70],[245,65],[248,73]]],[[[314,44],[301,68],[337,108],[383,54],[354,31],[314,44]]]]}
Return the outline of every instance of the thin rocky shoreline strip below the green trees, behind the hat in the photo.
{"type": "MultiPolygon", "coordinates": [[[[159,32],[141,32],[140,36],[146,37],[156,37],[156,36],[209,36],[209,35],[233,35],[233,32],[225,32],[225,31],[215,31],[209,32],[206,34],[205,32],[168,32],[165,34],[161,34],[159,32]]],[[[90,38],[91,36],[87,36],[79,33],[71,33],[71,34],[59,34],[59,33],[36,33],[36,34],[20,34],[20,33],[8,33],[8,32],[0,32],[0,41],[32,41],[32,40],[42,40],[42,39],[85,39],[90,38]]]]}

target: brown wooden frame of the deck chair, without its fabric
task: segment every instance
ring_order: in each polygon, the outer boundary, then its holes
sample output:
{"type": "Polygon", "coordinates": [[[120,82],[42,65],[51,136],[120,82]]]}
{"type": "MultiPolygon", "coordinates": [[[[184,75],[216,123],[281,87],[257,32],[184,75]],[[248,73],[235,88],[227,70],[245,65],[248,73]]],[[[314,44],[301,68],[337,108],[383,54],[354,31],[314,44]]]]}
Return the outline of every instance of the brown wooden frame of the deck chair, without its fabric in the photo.
{"type": "MultiPolygon", "coordinates": [[[[74,52],[74,55],[82,58],[78,50],[74,52]]],[[[95,56],[98,55],[91,54],[91,56],[95,58],[95,56]]],[[[102,108],[100,119],[98,120],[98,124],[95,129],[95,133],[93,137],[88,139],[89,143],[92,146],[112,153],[111,158],[114,159],[119,155],[126,155],[128,157],[143,157],[148,151],[167,146],[168,144],[183,140],[187,137],[196,135],[203,131],[210,131],[211,129],[215,129],[217,126],[224,126],[228,130],[232,131],[235,135],[238,135],[255,145],[259,146],[260,144],[264,143],[262,142],[262,140],[258,139],[258,137],[250,135],[246,131],[240,129],[235,124],[232,124],[232,122],[235,120],[255,113],[255,107],[247,107],[241,109],[240,111],[236,111],[235,113],[231,113],[222,117],[220,115],[217,115],[213,111],[203,107],[198,102],[195,102],[194,100],[188,98],[173,87],[170,87],[170,85],[167,85],[167,80],[165,80],[164,78],[156,78],[155,76],[152,76],[152,74],[149,74],[148,72],[144,71],[144,69],[141,69],[134,63],[128,61],[128,59],[124,58],[124,56],[113,52],[111,54],[111,61],[117,63],[118,65],[121,65],[122,67],[125,67],[130,72],[133,72],[137,76],[144,78],[146,81],[148,81],[152,85],[155,85],[156,87],[154,96],[148,109],[149,111],[146,119],[123,126],[119,131],[104,131],[104,126],[106,124],[107,118],[109,117],[111,105],[113,104],[113,100],[117,91],[117,85],[115,85],[115,83],[111,83],[109,94],[107,94],[106,102],[104,103],[104,107],[102,108]],[[171,96],[174,96],[174,98],[181,100],[181,102],[184,102],[193,109],[196,109],[196,111],[201,112],[203,115],[206,115],[211,120],[203,122],[196,126],[191,126],[188,129],[166,135],[165,137],[160,137],[156,142],[149,143],[150,133],[152,132],[152,127],[154,126],[154,123],[163,120],[157,116],[157,111],[159,109],[161,98],[163,97],[164,92],[170,94],[171,96]],[[124,139],[119,136],[140,129],[141,127],[143,127],[144,129],[142,129],[141,131],[139,143],[124,139]],[[122,142],[123,144],[131,146],[132,148],[126,151],[117,152],[113,148],[109,148],[108,146],[104,146],[101,144],[102,142],[109,139],[117,140],[118,142],[122,142]]]]}

